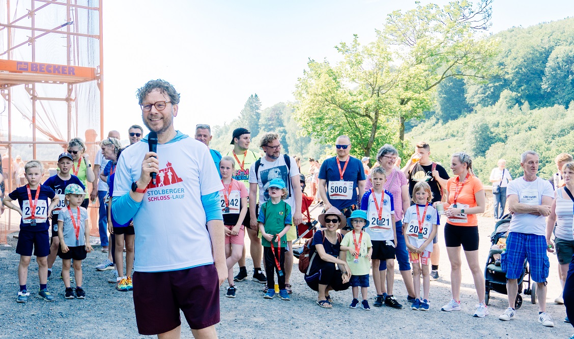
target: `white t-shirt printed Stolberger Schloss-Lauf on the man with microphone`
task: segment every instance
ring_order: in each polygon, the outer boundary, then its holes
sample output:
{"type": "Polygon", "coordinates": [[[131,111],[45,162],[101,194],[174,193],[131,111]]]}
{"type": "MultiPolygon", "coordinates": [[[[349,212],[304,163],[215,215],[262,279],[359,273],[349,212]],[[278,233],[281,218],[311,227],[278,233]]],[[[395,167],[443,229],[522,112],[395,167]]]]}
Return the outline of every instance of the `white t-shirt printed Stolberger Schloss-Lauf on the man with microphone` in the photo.
{"type": "MultiPolygon", "coordinates": [[[[135,271],[160,272],[213,263],[201,196],[223,189],[204,143],[178,133],[157,145],[160,173],[134,216],[135,271]]],[[[127,147],[115,171],[114,197],[131,190],[141,175],[147,142],[127,147]]]]}

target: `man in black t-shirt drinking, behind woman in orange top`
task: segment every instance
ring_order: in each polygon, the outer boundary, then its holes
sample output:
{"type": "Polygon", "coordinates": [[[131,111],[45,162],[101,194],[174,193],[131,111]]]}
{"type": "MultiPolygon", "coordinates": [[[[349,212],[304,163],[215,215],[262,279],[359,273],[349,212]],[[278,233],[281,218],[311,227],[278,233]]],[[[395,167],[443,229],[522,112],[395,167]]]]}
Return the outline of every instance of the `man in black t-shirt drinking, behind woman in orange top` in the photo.
{"type": "MultiPolygon", "coordinates": [[[[413,196],[414,184],[418,181],[426,181],[430,186],[432,192],[432,202],[443,200],[443,190],[447,187],[448,173],[443,166],[436,162],[430,161],[430,146],[428,143],[422,141],[414,146],[414,154],[410,160],[402,168],[406,178],[409,180],[409,196],[413,196]],[[417,164],[418,162],[418,164],[417,164]]],[[[430,280],[439,278],[439,235],[433,239],[433,251],[430,255],[432,262],[432,271],[430,272],[430,280]]]]}

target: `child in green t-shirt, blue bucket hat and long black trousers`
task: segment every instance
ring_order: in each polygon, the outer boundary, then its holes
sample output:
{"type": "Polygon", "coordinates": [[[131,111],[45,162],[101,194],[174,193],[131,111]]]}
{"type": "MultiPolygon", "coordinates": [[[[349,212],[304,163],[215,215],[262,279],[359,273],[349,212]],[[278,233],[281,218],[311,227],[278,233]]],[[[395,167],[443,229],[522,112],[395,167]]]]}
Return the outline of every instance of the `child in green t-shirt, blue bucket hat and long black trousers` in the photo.
{"type": "Polygon", "coordinates": [[[287,231],[291,227],[292,217],[289,204],[283,201],[288,197],[285,182],[275,178],[267,187],[269,200],[259,208],[259,231],[261,231],[261,244],[263,245],[263,259],[265,259],[265,274],[269,290],[263,298],[273,299],[275,295],[274,275],[277,272],[279,297],[289,300],[289,293],[285,289],[285,252],[287,251],[287,231]]]}

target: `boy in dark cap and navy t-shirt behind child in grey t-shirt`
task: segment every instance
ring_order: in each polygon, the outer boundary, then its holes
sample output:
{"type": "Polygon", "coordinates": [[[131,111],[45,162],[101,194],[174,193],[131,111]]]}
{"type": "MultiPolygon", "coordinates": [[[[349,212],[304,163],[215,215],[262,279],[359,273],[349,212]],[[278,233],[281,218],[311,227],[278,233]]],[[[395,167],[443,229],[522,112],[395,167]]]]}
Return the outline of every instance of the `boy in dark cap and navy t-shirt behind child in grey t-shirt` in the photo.
{"type": "Polygon", "coordinates": [[[79,185],[82,189],[86,189],[82,181],[80,181],[76,176],[70,173],[73,166],[72,154],[62,153],[58,157],[58,168],[60,172],[55,176],[49,177],[48,180],[44,182],[44,186],[48,186],[56,192],[59,200],[58,204],[52,211],[52,239],[50,246],[50,254],[48,255],[48,279],[52,274],[52,266],[56,261],[56,255],[60,248],[60,238],[58,237],[58,213],[64,208],[66,208],[66,201],[64,199],[64,190],[69,184],[79,185]]]}

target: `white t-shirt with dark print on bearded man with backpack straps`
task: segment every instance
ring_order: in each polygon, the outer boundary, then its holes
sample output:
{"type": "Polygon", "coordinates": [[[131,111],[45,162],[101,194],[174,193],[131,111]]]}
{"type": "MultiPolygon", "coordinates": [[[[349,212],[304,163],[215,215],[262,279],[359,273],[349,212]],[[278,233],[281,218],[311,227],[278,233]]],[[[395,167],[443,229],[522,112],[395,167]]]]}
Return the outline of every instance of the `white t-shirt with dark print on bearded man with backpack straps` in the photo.
{"type": "Polygon", "coordinates": [[[297,176],[297,181],[299,180],[299,169],[297,168],[297,163],[293,157],[291,159],[290,169],[287,170],[287,164],[285,163],[285,156],[283,154],[279,155],[276,161],[269,162],[265,157],[261,158],[261,164],[259,165],[259,171],[257,176],[255,175],[255,162],[251,165],[249,169],[249,183],[257,184],[259,186],[259,205],[261,206],[263,202],[269,200],[269,182],[275,178],[280,178],[285,182],[285,185],[289,188],[290,197],[285,199],[285,202],[291,207],[292,216],[295,214],[295,194],[293,192],[293,184],[290,184],[291,177],[297,176]]]}

